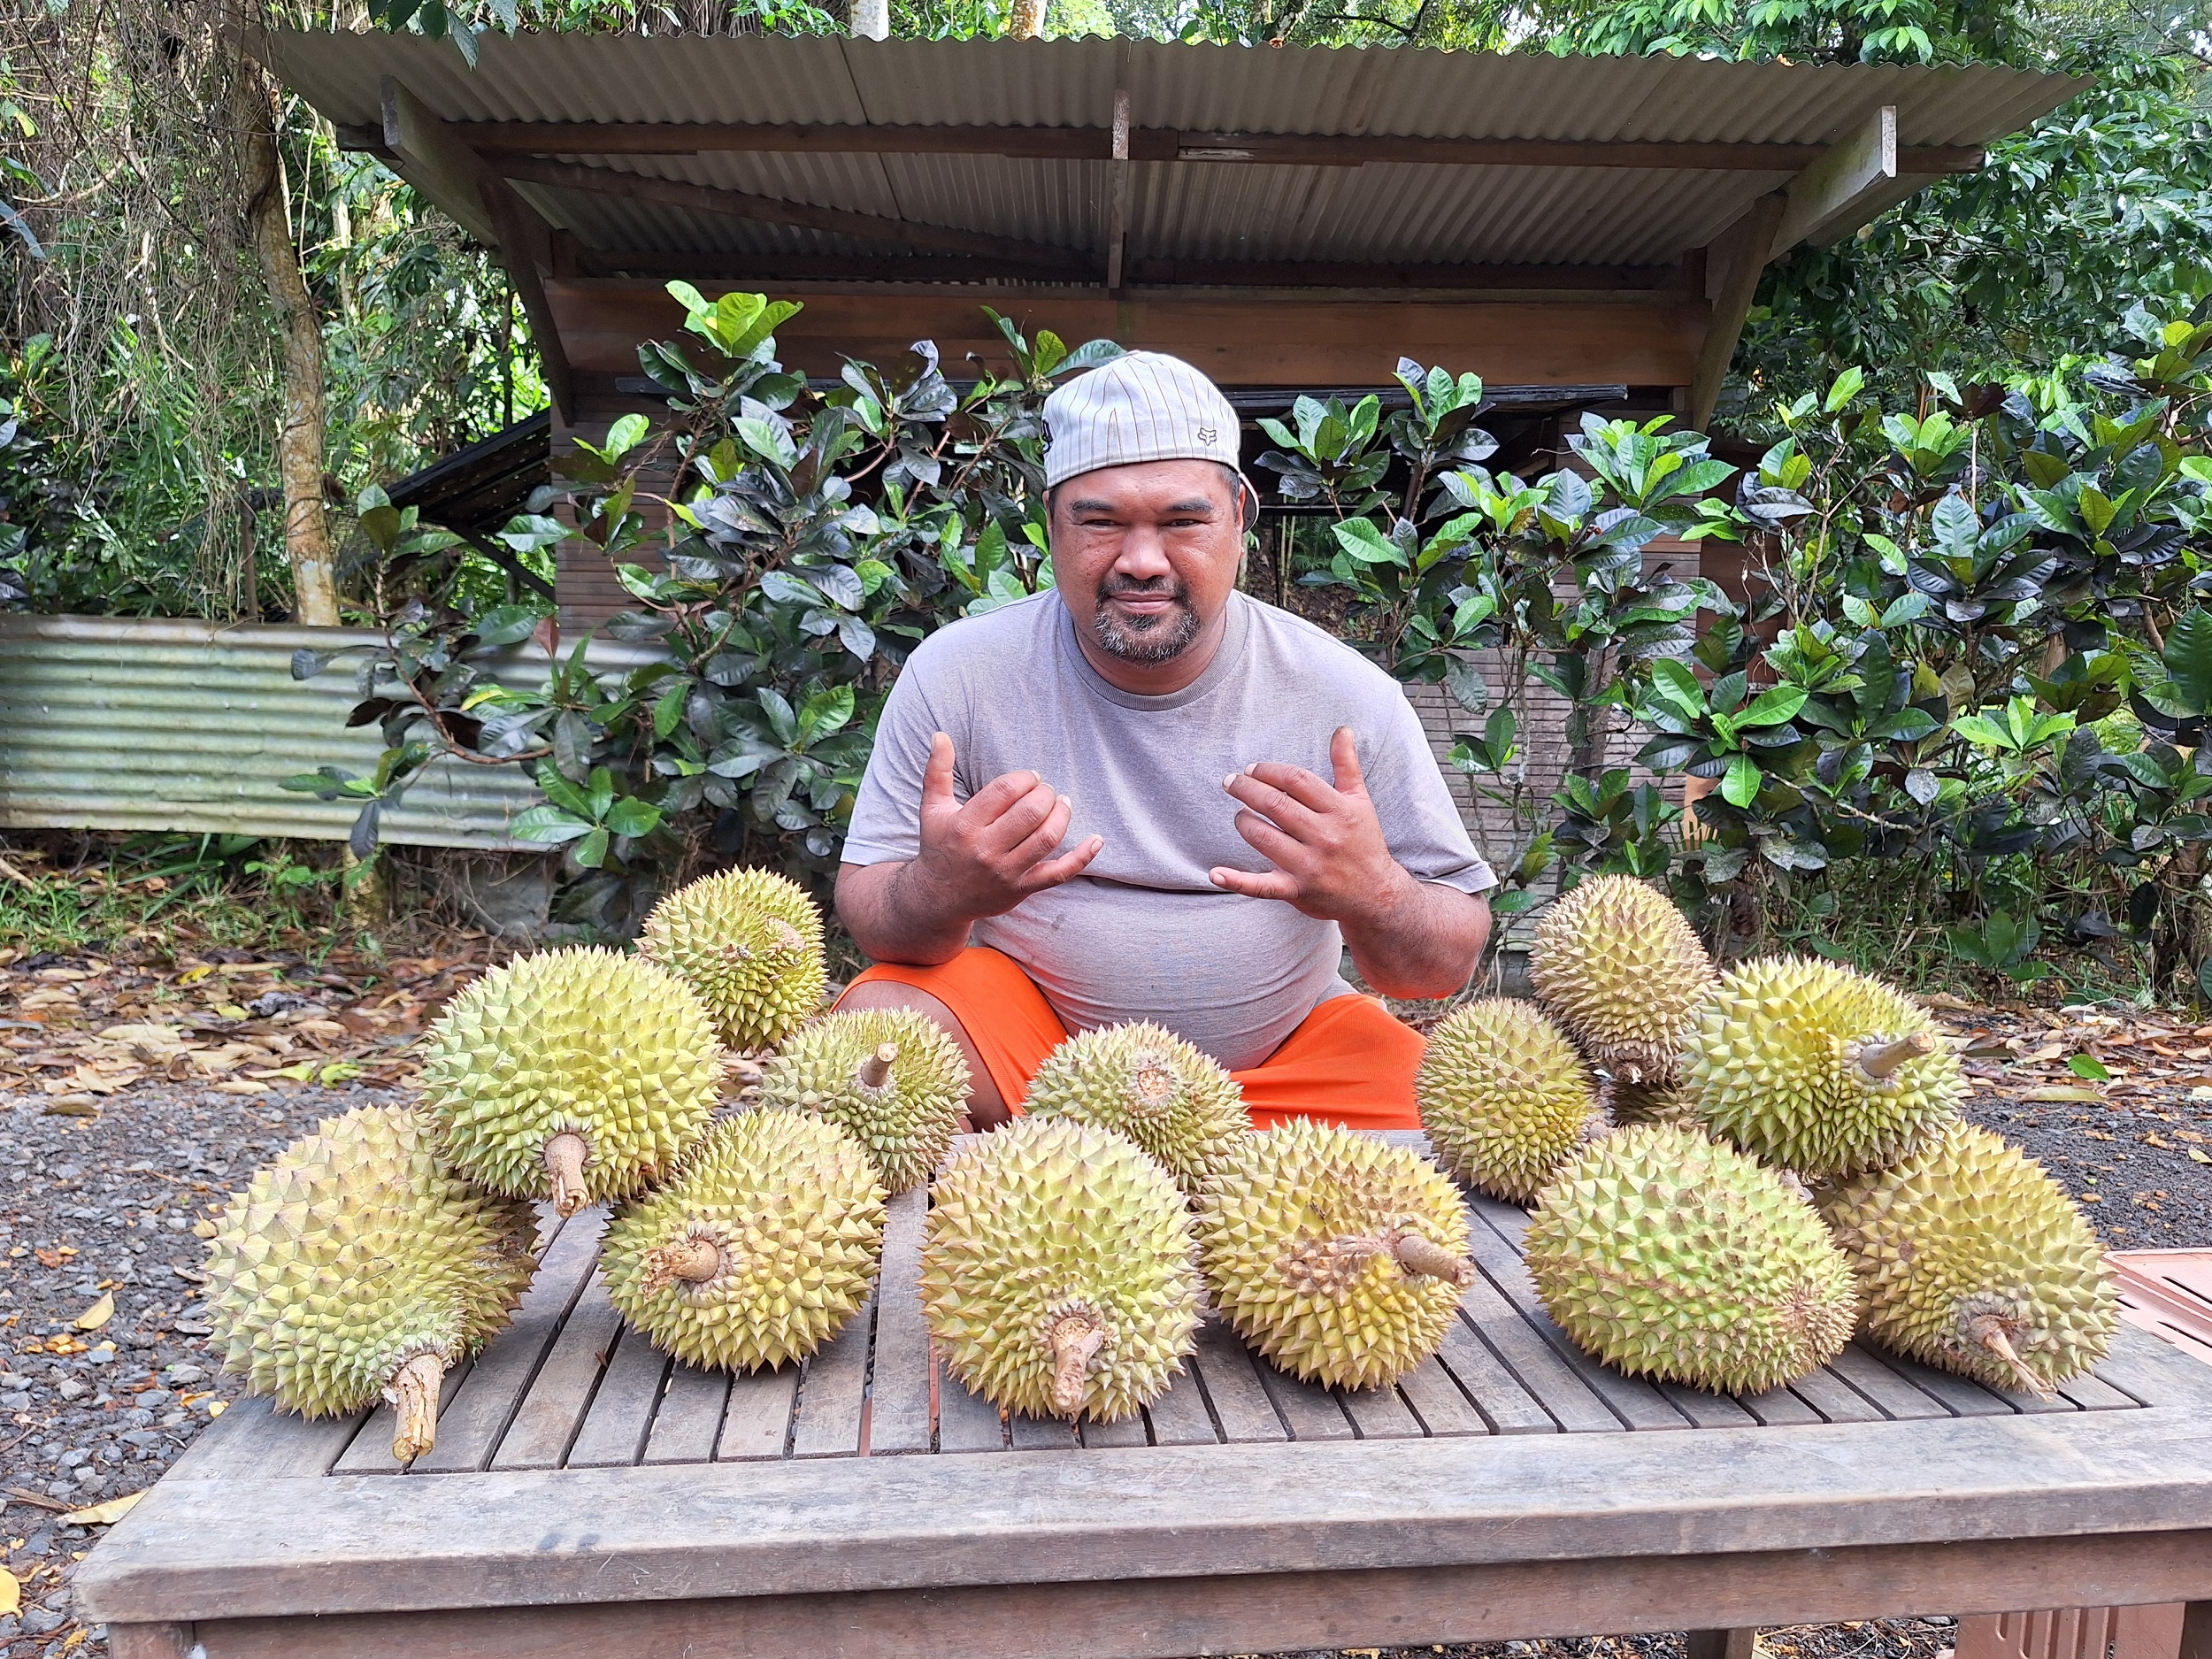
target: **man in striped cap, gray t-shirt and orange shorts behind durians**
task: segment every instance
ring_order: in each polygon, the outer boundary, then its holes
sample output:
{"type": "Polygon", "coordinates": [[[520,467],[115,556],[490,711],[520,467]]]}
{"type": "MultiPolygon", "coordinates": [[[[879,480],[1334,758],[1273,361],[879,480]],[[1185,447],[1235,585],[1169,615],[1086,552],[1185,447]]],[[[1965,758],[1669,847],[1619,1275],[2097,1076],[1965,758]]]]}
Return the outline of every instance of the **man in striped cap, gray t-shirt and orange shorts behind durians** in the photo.
{"type": "Polygon", "coordinates": [[[891,688],[836,902],[993,1128],[1068,1031],[1155,1020],[1259,1126],[1416,1128],[1420,1037],[1376,991],[1458,991],[1493,885],[1398,684],[1237,591],[1259,495],[1237,411],[1137,352],[1044,403],[1057,588],[922,641],[891,688]]]}

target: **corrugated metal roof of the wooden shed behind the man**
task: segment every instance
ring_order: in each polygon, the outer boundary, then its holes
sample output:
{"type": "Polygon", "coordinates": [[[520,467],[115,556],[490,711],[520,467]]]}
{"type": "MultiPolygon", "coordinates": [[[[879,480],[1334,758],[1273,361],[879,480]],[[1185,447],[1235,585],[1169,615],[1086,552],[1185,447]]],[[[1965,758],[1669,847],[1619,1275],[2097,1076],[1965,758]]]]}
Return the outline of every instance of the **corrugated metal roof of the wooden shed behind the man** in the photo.
{"type": "MultiPolygon", "coordinates": [[[[471,71],[447,42],[272,33],[263,58],[341,124],[394,75],[447,119],[1106,126],[1571,142],[1825,144],[1882,104],[1902,146],[1973,146],[2086,86],[1995,66],[1732,64],[1183,46],[1124,40],[518,35],[471,71]]],[[[1106,161],[706,153],[573,159],[931,226],[1097,250],[1106,161]]],[[[1137,161],[1133,259],[1657,263],[1712,241],[1787,173],[1137,161]]],[[[863,254],[887,243],[529,184],[602,252],[863,254]]],[[[1900,195],[1909,181],[1900,181],[1900,195]]]]}

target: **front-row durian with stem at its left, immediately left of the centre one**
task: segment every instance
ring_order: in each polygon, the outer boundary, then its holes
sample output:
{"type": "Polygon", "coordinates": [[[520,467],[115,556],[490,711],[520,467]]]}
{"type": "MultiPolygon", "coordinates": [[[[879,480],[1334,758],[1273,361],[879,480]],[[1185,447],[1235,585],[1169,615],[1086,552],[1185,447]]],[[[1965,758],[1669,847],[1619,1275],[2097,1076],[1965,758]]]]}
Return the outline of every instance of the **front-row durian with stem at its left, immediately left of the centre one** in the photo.
{"type": "Polygon", "coordinates": [[[686,1365],[805,1358],[867,1301],[883,1197],[867,1148],[836,1124],[726,1117],[668,1186],[608,1223],[606,1294],[686,1365]]]}

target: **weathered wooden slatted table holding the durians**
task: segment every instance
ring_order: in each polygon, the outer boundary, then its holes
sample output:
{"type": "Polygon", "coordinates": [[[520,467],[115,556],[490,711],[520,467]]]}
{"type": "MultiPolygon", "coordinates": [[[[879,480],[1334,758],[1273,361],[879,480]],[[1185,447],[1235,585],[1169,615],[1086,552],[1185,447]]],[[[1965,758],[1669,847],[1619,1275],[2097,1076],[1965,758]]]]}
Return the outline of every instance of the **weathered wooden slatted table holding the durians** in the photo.
{"type": "Polygon", "coordinates": [[[1851,1347],[1759,1398],[1608,1371],[1475,1201],[1460,1325],[1396,1389],[1281,1376],[1208,1325],[1141,1420],[1004,1422],[929,1354],[925,1197],[869,1307],[730,1378],[624,1332],[602,1221],[392,1425],[232,1407],[86,1559],[117,1659],[670,1652],[1137,1659],[2188,1601],[2212,1659],[2212,1369],[2124,1327],[2055,1402],[1851,1347]]]}

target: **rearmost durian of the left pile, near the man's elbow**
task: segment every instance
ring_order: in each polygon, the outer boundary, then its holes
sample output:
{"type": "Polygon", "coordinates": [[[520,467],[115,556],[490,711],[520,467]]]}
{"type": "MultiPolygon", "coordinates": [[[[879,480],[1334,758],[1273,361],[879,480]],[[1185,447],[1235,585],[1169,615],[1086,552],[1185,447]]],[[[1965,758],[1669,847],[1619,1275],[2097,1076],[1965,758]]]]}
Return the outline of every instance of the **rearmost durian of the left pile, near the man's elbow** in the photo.
{"type": "Polygon", "coordinates": [[[770,869],[677,887],[653,907],[637,953],[690,982],[730,1048],[772,1048],[823,1004],[823,916],[770,869]]]}

